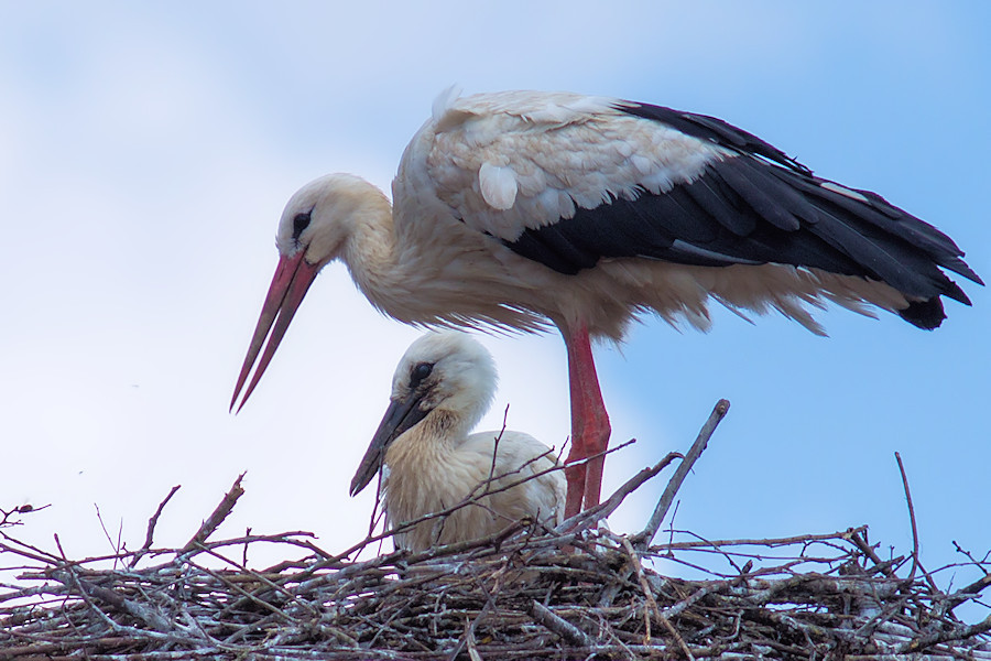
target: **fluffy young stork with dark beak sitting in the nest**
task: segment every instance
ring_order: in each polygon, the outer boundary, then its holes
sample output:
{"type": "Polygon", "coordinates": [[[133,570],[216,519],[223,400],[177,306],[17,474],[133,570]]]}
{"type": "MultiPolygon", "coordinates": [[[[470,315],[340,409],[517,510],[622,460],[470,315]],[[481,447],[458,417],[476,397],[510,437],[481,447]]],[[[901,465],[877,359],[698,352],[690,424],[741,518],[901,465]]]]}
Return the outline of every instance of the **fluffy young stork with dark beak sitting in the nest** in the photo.
{"type": "Polygon", "coordinates": [[[557,464],[549,447],[509,430],[468,435],[494,395],[492,356],[468,335],[428,333],[406,349],[351,496],[384,465],[382,505],[391,528],[471,500],[396,532],[399,548],[416,552],[487,538],[526,517],[551,525],[563,520],[564,476],[538,475],[557,464]]]}

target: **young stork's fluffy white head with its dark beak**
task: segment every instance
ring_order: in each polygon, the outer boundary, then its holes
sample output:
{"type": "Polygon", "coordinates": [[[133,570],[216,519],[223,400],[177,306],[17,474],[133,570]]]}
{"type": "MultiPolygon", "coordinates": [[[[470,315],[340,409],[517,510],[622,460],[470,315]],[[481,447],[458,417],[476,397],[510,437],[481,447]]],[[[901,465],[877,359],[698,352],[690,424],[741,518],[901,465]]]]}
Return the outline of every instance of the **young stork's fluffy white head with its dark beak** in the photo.
{"type": "Polygon", "coordinates": [[[410,345],[392,377],[389,409],[351,480],[351,496],[371,481],[392,442],[428,416],[443,419],[445,437],[467,436],[489,410],[496,382],[492,356],[465,333],[432,332],[410,345]]]}

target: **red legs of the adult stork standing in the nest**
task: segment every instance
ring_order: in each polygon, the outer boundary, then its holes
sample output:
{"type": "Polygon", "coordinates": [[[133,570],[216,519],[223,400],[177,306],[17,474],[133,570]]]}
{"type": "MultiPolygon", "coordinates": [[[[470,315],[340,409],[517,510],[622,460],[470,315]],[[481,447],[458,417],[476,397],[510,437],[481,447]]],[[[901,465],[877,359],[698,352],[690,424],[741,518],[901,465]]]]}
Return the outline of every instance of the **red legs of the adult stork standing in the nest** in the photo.
{"type": "MultiPolygon", "coordinates": [[[[599,390],[588,328],[585,324],[574,330],[562,328],[562,335],[568,349],[568,384],[571,391],[571,452],[566,460],[566,464],[571,464],[605,452],[611,427],[599,390]]],[[[566,466],[568,497],[565,517],[581,510],[582,498],[586,508],[599,503],[605,459],[600,456],[578,466],[566,466]]]]}

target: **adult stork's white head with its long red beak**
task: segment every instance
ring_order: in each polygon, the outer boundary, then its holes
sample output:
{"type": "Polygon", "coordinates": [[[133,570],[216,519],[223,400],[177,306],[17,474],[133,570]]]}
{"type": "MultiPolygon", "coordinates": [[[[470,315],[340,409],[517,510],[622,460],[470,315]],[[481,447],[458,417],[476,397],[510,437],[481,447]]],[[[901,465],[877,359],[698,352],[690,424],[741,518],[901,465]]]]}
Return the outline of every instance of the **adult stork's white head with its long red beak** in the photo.
{"type": "Polygon", "coordinates": [[[275,232],[279,264],[230,400],[231,409],[258,360],[265,337],[269,343],[258,361],[251,383],[244,390],[241,407],[251,397],[272,360],[317,273],[328,262],[341,256],[356,223],[360,223],[363,217],[382,213],[389,213],[385,196],[361,177],[351,174],[322,176],[300,188],[290,198],[275,232]]]}

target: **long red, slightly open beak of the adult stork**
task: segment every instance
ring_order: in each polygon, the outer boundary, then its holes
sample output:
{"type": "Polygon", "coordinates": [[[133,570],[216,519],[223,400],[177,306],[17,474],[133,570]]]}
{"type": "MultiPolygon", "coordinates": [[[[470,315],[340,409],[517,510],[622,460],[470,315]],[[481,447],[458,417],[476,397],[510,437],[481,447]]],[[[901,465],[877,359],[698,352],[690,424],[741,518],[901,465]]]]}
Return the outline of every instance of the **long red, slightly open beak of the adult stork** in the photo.
{"type": "Polygon", "coordinates": [[[238,395],[248,380],[251,367],[258,359],[258,354],[261,351],[265,337],[269,338],[269,344],[265,346],[265,353],[262,354],[258,364],[258,369],[254,370],[251,383],[248,384],[248,390],[244,391],[244,397],[241,399],[241,405],[238,407],[238,411],[244,407],[244,402],[248,401],[248,398],[254,391],[254,387],[261,380],[261,376],[265,372],[265,368],[269,367],[272,356],[275,355],[275,349],[279,348],[279,343],[282,342],[282,336],[285,335],[290,322],[293,321],[293,315],[296,314],[296,308],[300,307],[303,296],[306,295],[309,285],[313,284],[317,272],[320,270],[318,264],[311,264],[304,259],[304,250],[300,250],[293,257],[281,257],[279,259],[279,266],[275,267],[275,277],[272,278],[272,284],[269,285],[265,304],[262,305],[262,313],[258,317],[258,325],[254,327],[251,346],[248,347],[248,355],[244,357],[244,365],[241,367],[241,375],[238,377],[238,384],[235,387],[233,397],[230,398],[231,411],[233,411],[238,395]],[[275,324],[274,327],[272,327],[273,322],[275,324]],[[271,335],[269,334],[270,328],[272,330],[271,335]]]}

